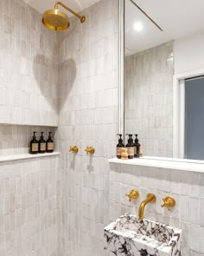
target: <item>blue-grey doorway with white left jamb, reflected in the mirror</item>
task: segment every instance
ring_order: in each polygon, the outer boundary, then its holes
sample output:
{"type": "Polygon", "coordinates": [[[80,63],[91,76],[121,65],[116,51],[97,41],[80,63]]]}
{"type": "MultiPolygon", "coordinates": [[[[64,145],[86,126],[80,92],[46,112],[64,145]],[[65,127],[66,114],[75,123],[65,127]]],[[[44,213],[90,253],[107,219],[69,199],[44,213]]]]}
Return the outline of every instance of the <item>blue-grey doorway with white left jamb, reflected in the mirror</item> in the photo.
{"type": "Polygon", "coordinates": [[[204,75],[176,78],[174,156],[204,160],[204,75]]]}

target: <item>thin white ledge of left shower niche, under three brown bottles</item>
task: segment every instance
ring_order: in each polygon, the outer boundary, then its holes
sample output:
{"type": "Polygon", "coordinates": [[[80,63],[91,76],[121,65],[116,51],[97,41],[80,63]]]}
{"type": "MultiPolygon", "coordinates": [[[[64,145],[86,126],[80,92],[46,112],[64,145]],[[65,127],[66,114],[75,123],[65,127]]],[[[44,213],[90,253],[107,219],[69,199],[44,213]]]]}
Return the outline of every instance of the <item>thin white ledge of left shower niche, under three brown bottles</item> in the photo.
{"type": "Polygon", "coordinates": [[[10,154],[10,155],[2,155],[0,156],[0,162],[3,161],[17,161],[23,159],[33,159],[33,158],[41,158],[48,156],[60,155],[59,152],[54,153],[45,153],[45,154],[10,154]]]}

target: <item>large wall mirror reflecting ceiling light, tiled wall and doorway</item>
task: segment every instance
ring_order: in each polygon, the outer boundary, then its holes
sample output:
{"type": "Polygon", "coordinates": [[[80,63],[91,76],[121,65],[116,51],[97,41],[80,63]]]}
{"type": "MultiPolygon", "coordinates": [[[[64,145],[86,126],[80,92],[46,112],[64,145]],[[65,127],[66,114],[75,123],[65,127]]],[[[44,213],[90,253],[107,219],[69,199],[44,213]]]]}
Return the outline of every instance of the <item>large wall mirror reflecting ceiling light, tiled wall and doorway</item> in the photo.
{"type": "Polygon", "coordinates": [[[204,160],[203,0],[123,3],[124,134],[144,156],[204,160]]]}

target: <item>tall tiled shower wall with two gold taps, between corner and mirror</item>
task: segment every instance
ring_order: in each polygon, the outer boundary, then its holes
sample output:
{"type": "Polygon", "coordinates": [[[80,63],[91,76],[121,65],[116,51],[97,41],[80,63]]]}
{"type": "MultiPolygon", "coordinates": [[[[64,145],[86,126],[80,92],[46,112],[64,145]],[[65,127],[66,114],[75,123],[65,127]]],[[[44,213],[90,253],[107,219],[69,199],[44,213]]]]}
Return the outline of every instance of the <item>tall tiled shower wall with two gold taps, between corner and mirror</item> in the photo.
{"type": "Polygon", "coordinates": [[[104,256],[109,164],[118,116],[118,1],[102,0],[59,34],[61,151],[57,203],[59,255],[104,256]],[[77,145],[78,154],[69,153],[77,145]],[[86,146],[95,154],[86,155],[86,146]]]}

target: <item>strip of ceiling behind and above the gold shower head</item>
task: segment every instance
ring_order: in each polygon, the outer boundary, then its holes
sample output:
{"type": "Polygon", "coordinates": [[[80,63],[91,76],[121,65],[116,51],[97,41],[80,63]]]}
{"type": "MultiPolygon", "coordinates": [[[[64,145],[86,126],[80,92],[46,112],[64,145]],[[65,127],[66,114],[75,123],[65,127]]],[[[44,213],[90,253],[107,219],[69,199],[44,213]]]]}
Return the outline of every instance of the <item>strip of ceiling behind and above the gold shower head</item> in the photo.
{"type": "MultiPolygon", "coordinates": [[[[54,3],[57,2],[57,0],[24,0],[24,2],[31,5],[35,10],[43,13],[45,10],[53,9],[54,3]]],[[[68,7],[75,11],[80,11],[91,6],[93,3],[99,2],[99,0],[62,0],[61,2],[67,4],[68,7]]]]}

